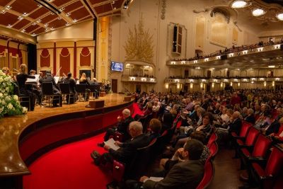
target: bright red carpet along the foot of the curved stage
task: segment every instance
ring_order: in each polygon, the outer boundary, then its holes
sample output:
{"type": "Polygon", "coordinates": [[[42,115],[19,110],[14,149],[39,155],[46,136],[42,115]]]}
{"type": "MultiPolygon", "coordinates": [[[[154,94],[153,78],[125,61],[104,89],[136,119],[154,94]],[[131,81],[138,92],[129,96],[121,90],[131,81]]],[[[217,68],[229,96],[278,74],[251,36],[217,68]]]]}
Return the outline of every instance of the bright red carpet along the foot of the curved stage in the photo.
{"type": "MultiPolygon", "coordinates": [[[[134,103],[134,115],[141,110],[134,103]]],[[[134,116],[133,115],[133,116],[134,116]]],[[[44,154],[30,165],[31,175],[23,177],[25,189],[100,189],[112,181],[111,173],[93,164],[91,151],[103,153],[96,144],[103,134],[64,145],[44,154]]]]}

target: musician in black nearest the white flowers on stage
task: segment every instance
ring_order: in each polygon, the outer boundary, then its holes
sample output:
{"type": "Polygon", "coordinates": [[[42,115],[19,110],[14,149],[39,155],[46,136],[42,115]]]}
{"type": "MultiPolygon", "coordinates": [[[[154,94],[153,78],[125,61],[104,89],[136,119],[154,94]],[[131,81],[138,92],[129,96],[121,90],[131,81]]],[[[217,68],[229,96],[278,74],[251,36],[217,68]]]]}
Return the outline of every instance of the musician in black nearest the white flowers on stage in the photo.
{"type": "Polygon", "coordinates": [[[28,74],[25,74],[26,71],[26,65],[21,64],[20,66],[20,72],[17,74],[16,79],[18,81],[18,88],[19,88],[19,93],[28,95],[30,97],[30,110],[33,111],[35,109],[35,93],[32,91],[28,91],[28,88],[25,85],[25,81],[30,78],[30,79],[35,79],[35,76],[30,76],[28,74]]]}

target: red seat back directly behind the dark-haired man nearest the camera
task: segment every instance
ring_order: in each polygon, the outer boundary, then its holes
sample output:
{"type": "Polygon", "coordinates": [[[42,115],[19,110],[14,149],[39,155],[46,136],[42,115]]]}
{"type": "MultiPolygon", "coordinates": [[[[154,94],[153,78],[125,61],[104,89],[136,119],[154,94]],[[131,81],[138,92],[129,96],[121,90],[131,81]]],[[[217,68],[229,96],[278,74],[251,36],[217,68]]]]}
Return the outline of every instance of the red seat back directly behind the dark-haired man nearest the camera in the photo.
{"type": "Polygon", "coordinates": [[[208,158],[204,165],[204,176],[202,181],[200,181],[199,185],[197,185],[196,189],[207,188],[209,183],[212,182],[214,177],[214,165],[212,163],[212,159],[208,158]]]}

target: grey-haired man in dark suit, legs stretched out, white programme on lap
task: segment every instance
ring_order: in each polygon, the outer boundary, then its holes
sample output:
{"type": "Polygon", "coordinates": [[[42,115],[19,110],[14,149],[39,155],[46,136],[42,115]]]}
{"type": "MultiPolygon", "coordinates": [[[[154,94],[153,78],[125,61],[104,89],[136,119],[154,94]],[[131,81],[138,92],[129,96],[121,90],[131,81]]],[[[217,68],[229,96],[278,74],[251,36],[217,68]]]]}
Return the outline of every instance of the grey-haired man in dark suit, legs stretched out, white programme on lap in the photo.
{"type": "Polygon", "coordinates": [[[115,144],[120,147],[117,151],[111,149],[108,145],[104,145],[104,148],[108,152],[102,155],[100,155],[98,151],[93,151],[91,157],[95,161],[95,164],[98,166],[100,164],[106,164],[107,162],[112,163],[113,159],[125,164],[131,162],[137,149],[146,147],[150,142],[149,137],[144,134],[142,130],[141,122],[131,122],[129,124],[129,134],[132,139],[124,143],[116,141],[115,144]]]}

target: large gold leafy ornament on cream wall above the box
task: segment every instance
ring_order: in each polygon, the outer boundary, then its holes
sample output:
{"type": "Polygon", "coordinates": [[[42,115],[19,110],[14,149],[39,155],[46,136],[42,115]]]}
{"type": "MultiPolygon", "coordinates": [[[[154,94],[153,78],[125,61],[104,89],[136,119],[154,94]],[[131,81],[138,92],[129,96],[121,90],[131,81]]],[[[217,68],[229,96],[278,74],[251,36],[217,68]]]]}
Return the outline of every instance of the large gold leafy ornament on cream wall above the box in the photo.
{"type": "Polygon", "coordinates": [[[144,30],[143,18],[139,19],[139,24],[134,25],[134,29],[129,28],[128,40],[124,46],[126,51],[125,60],[144,61],[153,64],[154,45],[153,35],[149,30],[144,30]]]}

